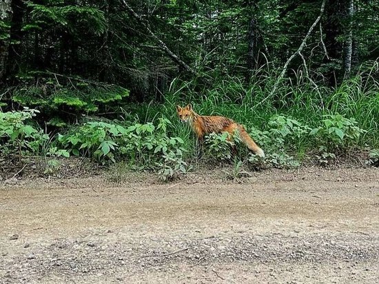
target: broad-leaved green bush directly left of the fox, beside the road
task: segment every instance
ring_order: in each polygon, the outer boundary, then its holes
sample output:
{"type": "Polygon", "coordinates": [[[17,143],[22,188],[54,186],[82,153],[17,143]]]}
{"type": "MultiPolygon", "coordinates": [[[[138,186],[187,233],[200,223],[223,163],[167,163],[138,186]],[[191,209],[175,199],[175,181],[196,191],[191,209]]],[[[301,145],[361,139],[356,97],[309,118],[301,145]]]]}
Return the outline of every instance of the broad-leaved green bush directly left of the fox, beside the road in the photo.
{"type": "Polygon", "coordinates": [[[187,172],[183,161],[184,141],[167,135],[167,119],[153,123],[120,125],[92,121],[59,135],[63,148],[75,156],[88,156],[100,163],[125,159],[142,168],[158,170],[163,180],[187,172]]]}

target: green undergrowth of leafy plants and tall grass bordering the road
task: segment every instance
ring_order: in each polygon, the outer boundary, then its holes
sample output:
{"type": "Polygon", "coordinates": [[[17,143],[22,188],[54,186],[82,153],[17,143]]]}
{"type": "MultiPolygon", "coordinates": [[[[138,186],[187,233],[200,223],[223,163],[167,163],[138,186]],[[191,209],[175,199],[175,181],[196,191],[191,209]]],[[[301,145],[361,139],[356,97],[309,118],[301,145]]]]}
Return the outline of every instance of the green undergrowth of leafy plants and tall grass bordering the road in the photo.
{"type": "Polygon", "coordinates": [[[74,155],[105,165],[122,162],[130,170],[154,170],[164,181],[185,174],[200,158],[236,165],[233,176],[242,168],[298,167],[308,156],[325,165],[339,154],[367,149],[370,163],[377,165],[379,83],[373,74],[378,66],[373,69],[338,88],[316,88],[298,75],[296,83],[283,81],[272,97],[268,94],[274,80],[268,71],[253,76],[249,84],[227,77],[212,88],[199,88],[195,79],[175,79],[163,103],[123,105],[117,110],[119,120],[83,116],[76,125],[57,128],[59,134],[54,135],[39,127],[37,110],[0,112],[0,149],[19,156],[74,155]],[[176,115],[175,106],[189,102],[198,114],[241,123],[265,150],[265,159],[249,153],[238,138],[231,143],[226,134],[207,136],[200,149],[192,130],[176,115]]]}

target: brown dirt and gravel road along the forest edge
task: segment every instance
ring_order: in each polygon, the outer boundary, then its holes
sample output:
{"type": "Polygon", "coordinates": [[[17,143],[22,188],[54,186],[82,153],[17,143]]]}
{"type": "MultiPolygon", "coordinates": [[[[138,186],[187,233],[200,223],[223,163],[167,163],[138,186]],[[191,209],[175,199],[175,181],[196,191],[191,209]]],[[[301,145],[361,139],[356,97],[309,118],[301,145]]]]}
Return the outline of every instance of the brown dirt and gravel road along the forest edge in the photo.
{"type": "Polygon", "coordinates": [[[0,283],[379,283],[379,170],[0,185],[0,283]]]}

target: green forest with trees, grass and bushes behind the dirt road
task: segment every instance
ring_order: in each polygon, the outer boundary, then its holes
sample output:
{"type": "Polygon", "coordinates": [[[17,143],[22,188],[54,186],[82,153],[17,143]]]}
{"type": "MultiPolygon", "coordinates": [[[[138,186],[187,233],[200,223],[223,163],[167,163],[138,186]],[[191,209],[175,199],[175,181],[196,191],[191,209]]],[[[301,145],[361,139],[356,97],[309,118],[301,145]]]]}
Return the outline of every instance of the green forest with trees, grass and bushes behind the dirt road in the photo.
{"type": "Polygon", "coordinates": [[[2,0],[0,161],[123,163],[174,179],[240,168],[379,163],[373,0],[2,0]],[[210,134],[176,105],[244,125],[265,150],[210,134]],[[355,158],[357,157],[357,158],[355,158]]]}

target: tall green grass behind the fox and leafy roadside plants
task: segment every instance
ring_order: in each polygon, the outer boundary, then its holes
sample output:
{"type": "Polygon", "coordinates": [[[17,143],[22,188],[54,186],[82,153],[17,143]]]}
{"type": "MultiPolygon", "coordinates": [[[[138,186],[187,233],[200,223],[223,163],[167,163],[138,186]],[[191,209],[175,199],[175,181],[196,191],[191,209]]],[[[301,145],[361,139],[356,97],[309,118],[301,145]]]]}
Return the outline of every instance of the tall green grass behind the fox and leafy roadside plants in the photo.
{"type": "MultiPolygon", "coordinates": [[[[171,134],[187,141],[189,152],[195,149],[194,136],[178,120],[177,104],[192,103],[198,114],[227,116],[245,125],[247,130],[262,131],[268,129],[267,121],[277,114],[291,116],[310,128],[317,128],[327,114],[341,114],[356,119],[358,126],[367,130],[360,136],[358,146],[379,148],[378,62],[336,88],[326,87],[322,82],[315,84],[302,72],[296,72],[292,79],[280,82],[272,97],[268,96],[276,73],[267,70],[258,70],[249,83],[239,77],[216,79],[212,85],[201,85],[197,79],[174,79],[163,103],[139,105],[136,112],[144,121],[154,121],[158,116],[172,121],[171,134]]],[[[307,137],[296,141],[298,153],[309,152],[315,146],[307,137]]]]}

